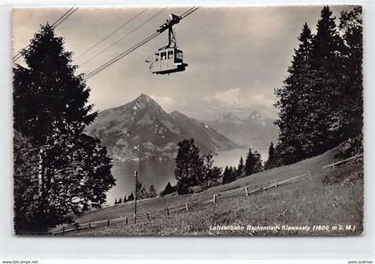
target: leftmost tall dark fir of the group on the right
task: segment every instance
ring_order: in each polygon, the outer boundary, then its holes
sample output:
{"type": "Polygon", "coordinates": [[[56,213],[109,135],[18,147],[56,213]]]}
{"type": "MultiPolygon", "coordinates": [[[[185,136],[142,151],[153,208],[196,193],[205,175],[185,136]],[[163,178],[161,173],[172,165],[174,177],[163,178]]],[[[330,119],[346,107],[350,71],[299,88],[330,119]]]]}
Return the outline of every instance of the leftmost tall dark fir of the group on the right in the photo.
{"type": "Polygon", "coordinates": [[[304,135],[312,129],[305,123],[308,104],[311,103],[309,85],[312,79],[312,32],[307,23],[298,40],[300,44],[287,70],[289,75],[284,80],[284,86],[275,89],[279,99],[275,103],[279,108],[279,120],[275,123],[279,126],[279,147],[283,162],[287,164],[302,159],[304,148],[312,144],[304,135]]]}

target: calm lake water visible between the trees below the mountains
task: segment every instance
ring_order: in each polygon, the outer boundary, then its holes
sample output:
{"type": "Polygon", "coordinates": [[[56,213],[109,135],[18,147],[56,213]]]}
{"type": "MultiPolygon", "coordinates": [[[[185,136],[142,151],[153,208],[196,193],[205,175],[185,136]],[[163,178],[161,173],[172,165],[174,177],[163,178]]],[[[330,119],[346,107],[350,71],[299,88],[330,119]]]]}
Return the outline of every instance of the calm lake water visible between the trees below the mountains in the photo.
{"type": "MultiPolygon", "coordinates": [[[[248,149],[234,149],[229,151],[218,152],[213,156],[213,163],[216,166],[237,166],[239,158],[242,156],[244,161],[248,149]]],[[[267,159],[267,150],[258,150],[262,155],[262,160],[267,159]]],[[[135,191],[134,171],[139,171],[138,180],[148,189],[154,185],[157,193],[160,193],[168,182],[171,185],[176,184],[174,177],[174,161],[113,161],[112,176],[116,179],[116,186],[107,193],[108,204],[113,204],[114,199],[123,199],[124,195],[128,196],[135,191]]]]}

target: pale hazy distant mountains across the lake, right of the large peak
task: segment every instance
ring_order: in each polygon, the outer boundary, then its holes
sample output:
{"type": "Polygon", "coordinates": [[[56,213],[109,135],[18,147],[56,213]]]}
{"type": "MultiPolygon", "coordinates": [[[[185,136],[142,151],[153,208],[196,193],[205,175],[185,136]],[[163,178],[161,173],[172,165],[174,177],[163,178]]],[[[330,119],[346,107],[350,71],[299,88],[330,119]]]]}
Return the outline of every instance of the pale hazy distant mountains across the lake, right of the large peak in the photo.
{"type": "Polygon", "coordinates": [[[278,136],[278,128],[273,120],[264,119],[258,111],[253,111],[245,119],[227,113],[208,124],[230,140],[246,146],[266,148],[271,141],[275,143],[278,136]]]}

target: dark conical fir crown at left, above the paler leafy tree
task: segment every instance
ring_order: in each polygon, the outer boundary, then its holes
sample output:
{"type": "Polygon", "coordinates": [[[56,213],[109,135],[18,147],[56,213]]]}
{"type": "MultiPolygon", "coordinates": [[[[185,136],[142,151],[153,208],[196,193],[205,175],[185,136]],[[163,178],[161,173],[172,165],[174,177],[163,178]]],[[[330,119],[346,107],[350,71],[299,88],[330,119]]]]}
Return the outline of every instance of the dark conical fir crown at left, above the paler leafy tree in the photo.
{"type": "Polygon", "coordinates": [[[46,24],[21,51],[28,68],[13,69],[14,128],[33,142],[45,143],[53,124],[80,134],[97,115],[87,104],[90,89],[75,75],[77,66],[63,44],[46,24]]]}

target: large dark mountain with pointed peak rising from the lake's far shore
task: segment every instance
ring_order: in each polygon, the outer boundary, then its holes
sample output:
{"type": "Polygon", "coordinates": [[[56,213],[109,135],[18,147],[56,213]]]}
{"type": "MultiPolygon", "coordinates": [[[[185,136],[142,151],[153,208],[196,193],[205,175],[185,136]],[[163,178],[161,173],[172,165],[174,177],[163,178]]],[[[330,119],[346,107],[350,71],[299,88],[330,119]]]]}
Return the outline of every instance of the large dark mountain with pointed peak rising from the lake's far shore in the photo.
{"type": "Polygon", "coordinates": [[[163,111],[147,95],[99,112],[87,134],[99,137],[113,159],[120,161],[171,159],[177,153],[179,141],[191,137],[202,153],[237,147],[203,122],[178,111],[163,111]]]}

